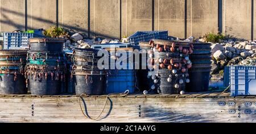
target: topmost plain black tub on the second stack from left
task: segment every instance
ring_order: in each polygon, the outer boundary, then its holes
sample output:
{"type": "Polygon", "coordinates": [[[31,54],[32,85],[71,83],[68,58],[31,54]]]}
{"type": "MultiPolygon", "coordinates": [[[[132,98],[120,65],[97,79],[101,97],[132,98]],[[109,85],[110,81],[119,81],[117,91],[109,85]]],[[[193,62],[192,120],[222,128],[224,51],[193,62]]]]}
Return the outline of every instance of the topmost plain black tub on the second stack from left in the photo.
{"type": "Polygon", "coordinates": [[[31,51],[63,52],[64,38],[30,38],[31,51]]]}

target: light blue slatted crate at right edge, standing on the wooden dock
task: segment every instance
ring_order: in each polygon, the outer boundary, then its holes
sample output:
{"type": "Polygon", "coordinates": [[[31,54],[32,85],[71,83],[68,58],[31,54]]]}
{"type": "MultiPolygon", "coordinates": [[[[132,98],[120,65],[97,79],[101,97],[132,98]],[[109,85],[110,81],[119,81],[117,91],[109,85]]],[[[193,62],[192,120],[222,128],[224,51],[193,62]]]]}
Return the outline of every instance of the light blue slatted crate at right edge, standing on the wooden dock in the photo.
{"type": "Polygon", "coordinates": [[[230,66],[230,95],[256,95],[256,66],[230,66]]]}

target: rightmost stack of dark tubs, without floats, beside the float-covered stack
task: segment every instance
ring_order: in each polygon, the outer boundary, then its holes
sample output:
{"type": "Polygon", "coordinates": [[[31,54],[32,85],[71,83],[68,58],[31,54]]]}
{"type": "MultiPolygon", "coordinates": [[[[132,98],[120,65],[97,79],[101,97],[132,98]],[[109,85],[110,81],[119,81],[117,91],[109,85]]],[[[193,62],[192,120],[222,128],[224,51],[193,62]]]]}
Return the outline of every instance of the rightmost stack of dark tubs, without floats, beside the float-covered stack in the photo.
{"type": "Polygon", "coordinates": [[[193,43],[193,53],[190,55],[193,66],[188,70],[191,82],[186,90],[189,92],[207,91],[211,69],[210,43],[193,43]]]}

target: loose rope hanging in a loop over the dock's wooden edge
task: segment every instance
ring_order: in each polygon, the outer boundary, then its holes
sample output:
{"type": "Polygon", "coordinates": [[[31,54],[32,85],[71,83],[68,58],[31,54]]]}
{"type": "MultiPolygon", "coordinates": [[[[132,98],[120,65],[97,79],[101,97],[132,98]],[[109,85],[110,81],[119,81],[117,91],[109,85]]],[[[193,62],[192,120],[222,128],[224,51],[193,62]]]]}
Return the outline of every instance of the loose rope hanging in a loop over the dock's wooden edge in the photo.
{"type": "Polygon", "coordinates": [[[105,110],[105,108],[106,108],[106,104],[107,104],[107,102],[108,102],[108,99],[109,99],[109,96],[110,96],[110,95],[120,95],[120,96],[122,96],[122,97],[125,97],[125,96],[128,95],[128,94],[129,94],[129,90],[126,90],[124,93],[112,93],[112,94],[108,94],[108,95],[106,96],[106,101],[105,101],[104,107],[102,108],[101,113],[97,116],[97,118],[91,118],[88,114],[87,114],[87,115],[85,114],[84,110],[82,110],[81,99],[82,99],[82,95],[86,95],[85,93],[82,93],[82,94],[79,96],[79,105],[80,105],[82,114],[83,114],[86,118],[91,119],[91,120],[101,120],[101,119],[98,119],[98,118],[100,118],[101,114],[104,112],[104,110],[105,110]]]}

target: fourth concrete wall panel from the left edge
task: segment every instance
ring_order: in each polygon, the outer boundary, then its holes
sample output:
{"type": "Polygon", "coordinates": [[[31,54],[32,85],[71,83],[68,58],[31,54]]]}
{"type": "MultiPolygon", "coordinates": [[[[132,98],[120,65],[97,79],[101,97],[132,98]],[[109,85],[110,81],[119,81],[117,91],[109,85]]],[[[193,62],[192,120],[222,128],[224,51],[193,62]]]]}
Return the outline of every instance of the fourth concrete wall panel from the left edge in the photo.
{"type": "Polygon", "coordinates": [[[92,36],[120,37],[120,1],[90,1],[90,32],[92,36]]]}

